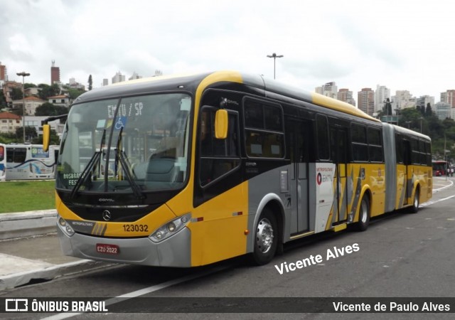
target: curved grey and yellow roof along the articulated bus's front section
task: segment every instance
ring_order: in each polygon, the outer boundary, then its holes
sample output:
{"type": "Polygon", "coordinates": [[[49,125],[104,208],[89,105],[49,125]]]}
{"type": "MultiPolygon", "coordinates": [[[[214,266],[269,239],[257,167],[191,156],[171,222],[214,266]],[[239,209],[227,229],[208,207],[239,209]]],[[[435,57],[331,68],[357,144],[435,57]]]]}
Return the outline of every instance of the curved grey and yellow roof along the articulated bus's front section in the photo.
{"type": "Polygon", "coordinates": [[[315,105],[327,107],[331,110],[350,114],[355,117],[380,122],[380,120],[371,117],[362,110],[346,102],[319,95],[316,92],[301,90],[298,87],[293,87],[292,85],[287,85],[283,82],[270,80],[262,75],[239,73],[232,70],[181,75],[160,75],[151,78],[117,82],[112,85],[85,92],[83,95],[77,97],[75,104],[90,100],[121,97],[124,95],[146,94],[154,91],[181,89],[195,92],[201,84],[203,84],[203,89],[205,89],[205,87],[210,87],[211,85],[219,84],[220,82],[242,83],[261,90],[265,97],[268,97],[272,93],[278,94],[295,100],[314,103],[315,105]]]}

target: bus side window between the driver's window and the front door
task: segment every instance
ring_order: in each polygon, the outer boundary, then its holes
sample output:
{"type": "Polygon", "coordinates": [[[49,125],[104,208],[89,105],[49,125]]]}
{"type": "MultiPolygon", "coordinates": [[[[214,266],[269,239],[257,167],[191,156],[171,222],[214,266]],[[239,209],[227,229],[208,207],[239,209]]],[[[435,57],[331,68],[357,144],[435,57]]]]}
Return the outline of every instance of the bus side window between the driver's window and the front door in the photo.
{"type": "Polygon", "coordinates": [[[278,105],[247,99],[245,111],[245,149],[250,157],[284,157],[283,112],[278,105]]]}

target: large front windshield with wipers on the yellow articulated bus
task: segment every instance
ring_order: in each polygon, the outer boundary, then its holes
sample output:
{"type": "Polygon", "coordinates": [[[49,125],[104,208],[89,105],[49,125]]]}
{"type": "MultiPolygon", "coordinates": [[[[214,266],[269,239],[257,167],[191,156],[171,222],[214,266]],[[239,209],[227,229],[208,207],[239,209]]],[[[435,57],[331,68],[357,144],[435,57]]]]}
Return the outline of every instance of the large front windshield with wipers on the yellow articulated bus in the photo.
{"type": "Polygon", "coordinates": [[[56,186],[75,193],[181,188],[188,165],[191,97],[166,93],[73,105],[56,186]]]}

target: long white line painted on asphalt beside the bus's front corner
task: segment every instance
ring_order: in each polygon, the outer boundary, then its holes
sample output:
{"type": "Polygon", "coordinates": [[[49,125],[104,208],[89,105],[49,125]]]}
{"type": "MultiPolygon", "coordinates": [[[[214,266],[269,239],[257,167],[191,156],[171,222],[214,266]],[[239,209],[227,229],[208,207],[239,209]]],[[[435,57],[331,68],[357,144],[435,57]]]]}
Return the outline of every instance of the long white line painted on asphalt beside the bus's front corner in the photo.
{"type": "MultiPolygon", "coordinates": [[[[222,270],[228,269],[229,267],[230,266],[214,268],[213,270],[208,270],[206,272],[200,272],[200,273],[196,273],[196,274],[191,274],[191,275],[188,275],[186,277],[173,279],[173,280],[170,280],[168,282],[163,282],[163,283],[160,283],[160,284],[156,284],[154,286],[147,287],[147,288],[144,288],[144,289],[140,289],[140,290],[137,290],[137,291],[134,291],[134,292],[129,292],[127,294],[122,294],[122,295],[120,295],[118,297],[114,297],[114,298],[105,300],[105,302],[106,302],[105,305],[109,306],[111,304],[117,304],[117,303],[123,302],[125,300],[129,300],[129,299],[132,299],[132,298],[140,297],[140,296],[143,296],[144,294],[149,294],[151,292],[155,292],[155,291],[167,288],[167,287],[171,287],[173,285],[180,284],[182,282],[191,281],[193,279],[197,279],[197,278],[200,278],[200,277],[205,277],[205,276],[207,276],[209,274],[213,274],[215,272],[220,272],[222,270]]],[[[74,299],[77,299],[77,298],[74,298],[74,299]]],[[[65,312],[63,314],[55,314],[53,316],[48,316],[48,317],[43,318],[41,320],[68,319],[68,318],[72,318],[73,316],[77,316],[77,315],[83,314],[83,313],[84,312],[65,312]]]]}

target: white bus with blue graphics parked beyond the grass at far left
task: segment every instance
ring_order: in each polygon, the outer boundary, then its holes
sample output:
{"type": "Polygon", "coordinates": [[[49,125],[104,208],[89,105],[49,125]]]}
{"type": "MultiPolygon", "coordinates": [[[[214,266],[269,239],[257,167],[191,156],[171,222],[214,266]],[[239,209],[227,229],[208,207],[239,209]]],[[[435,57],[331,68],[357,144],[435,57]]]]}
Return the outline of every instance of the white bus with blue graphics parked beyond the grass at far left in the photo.
{"type": "Polygon", "coordinates": [[[53,179],[59,146],[42,144],[5,144],[6,180],[53,179]]]}

